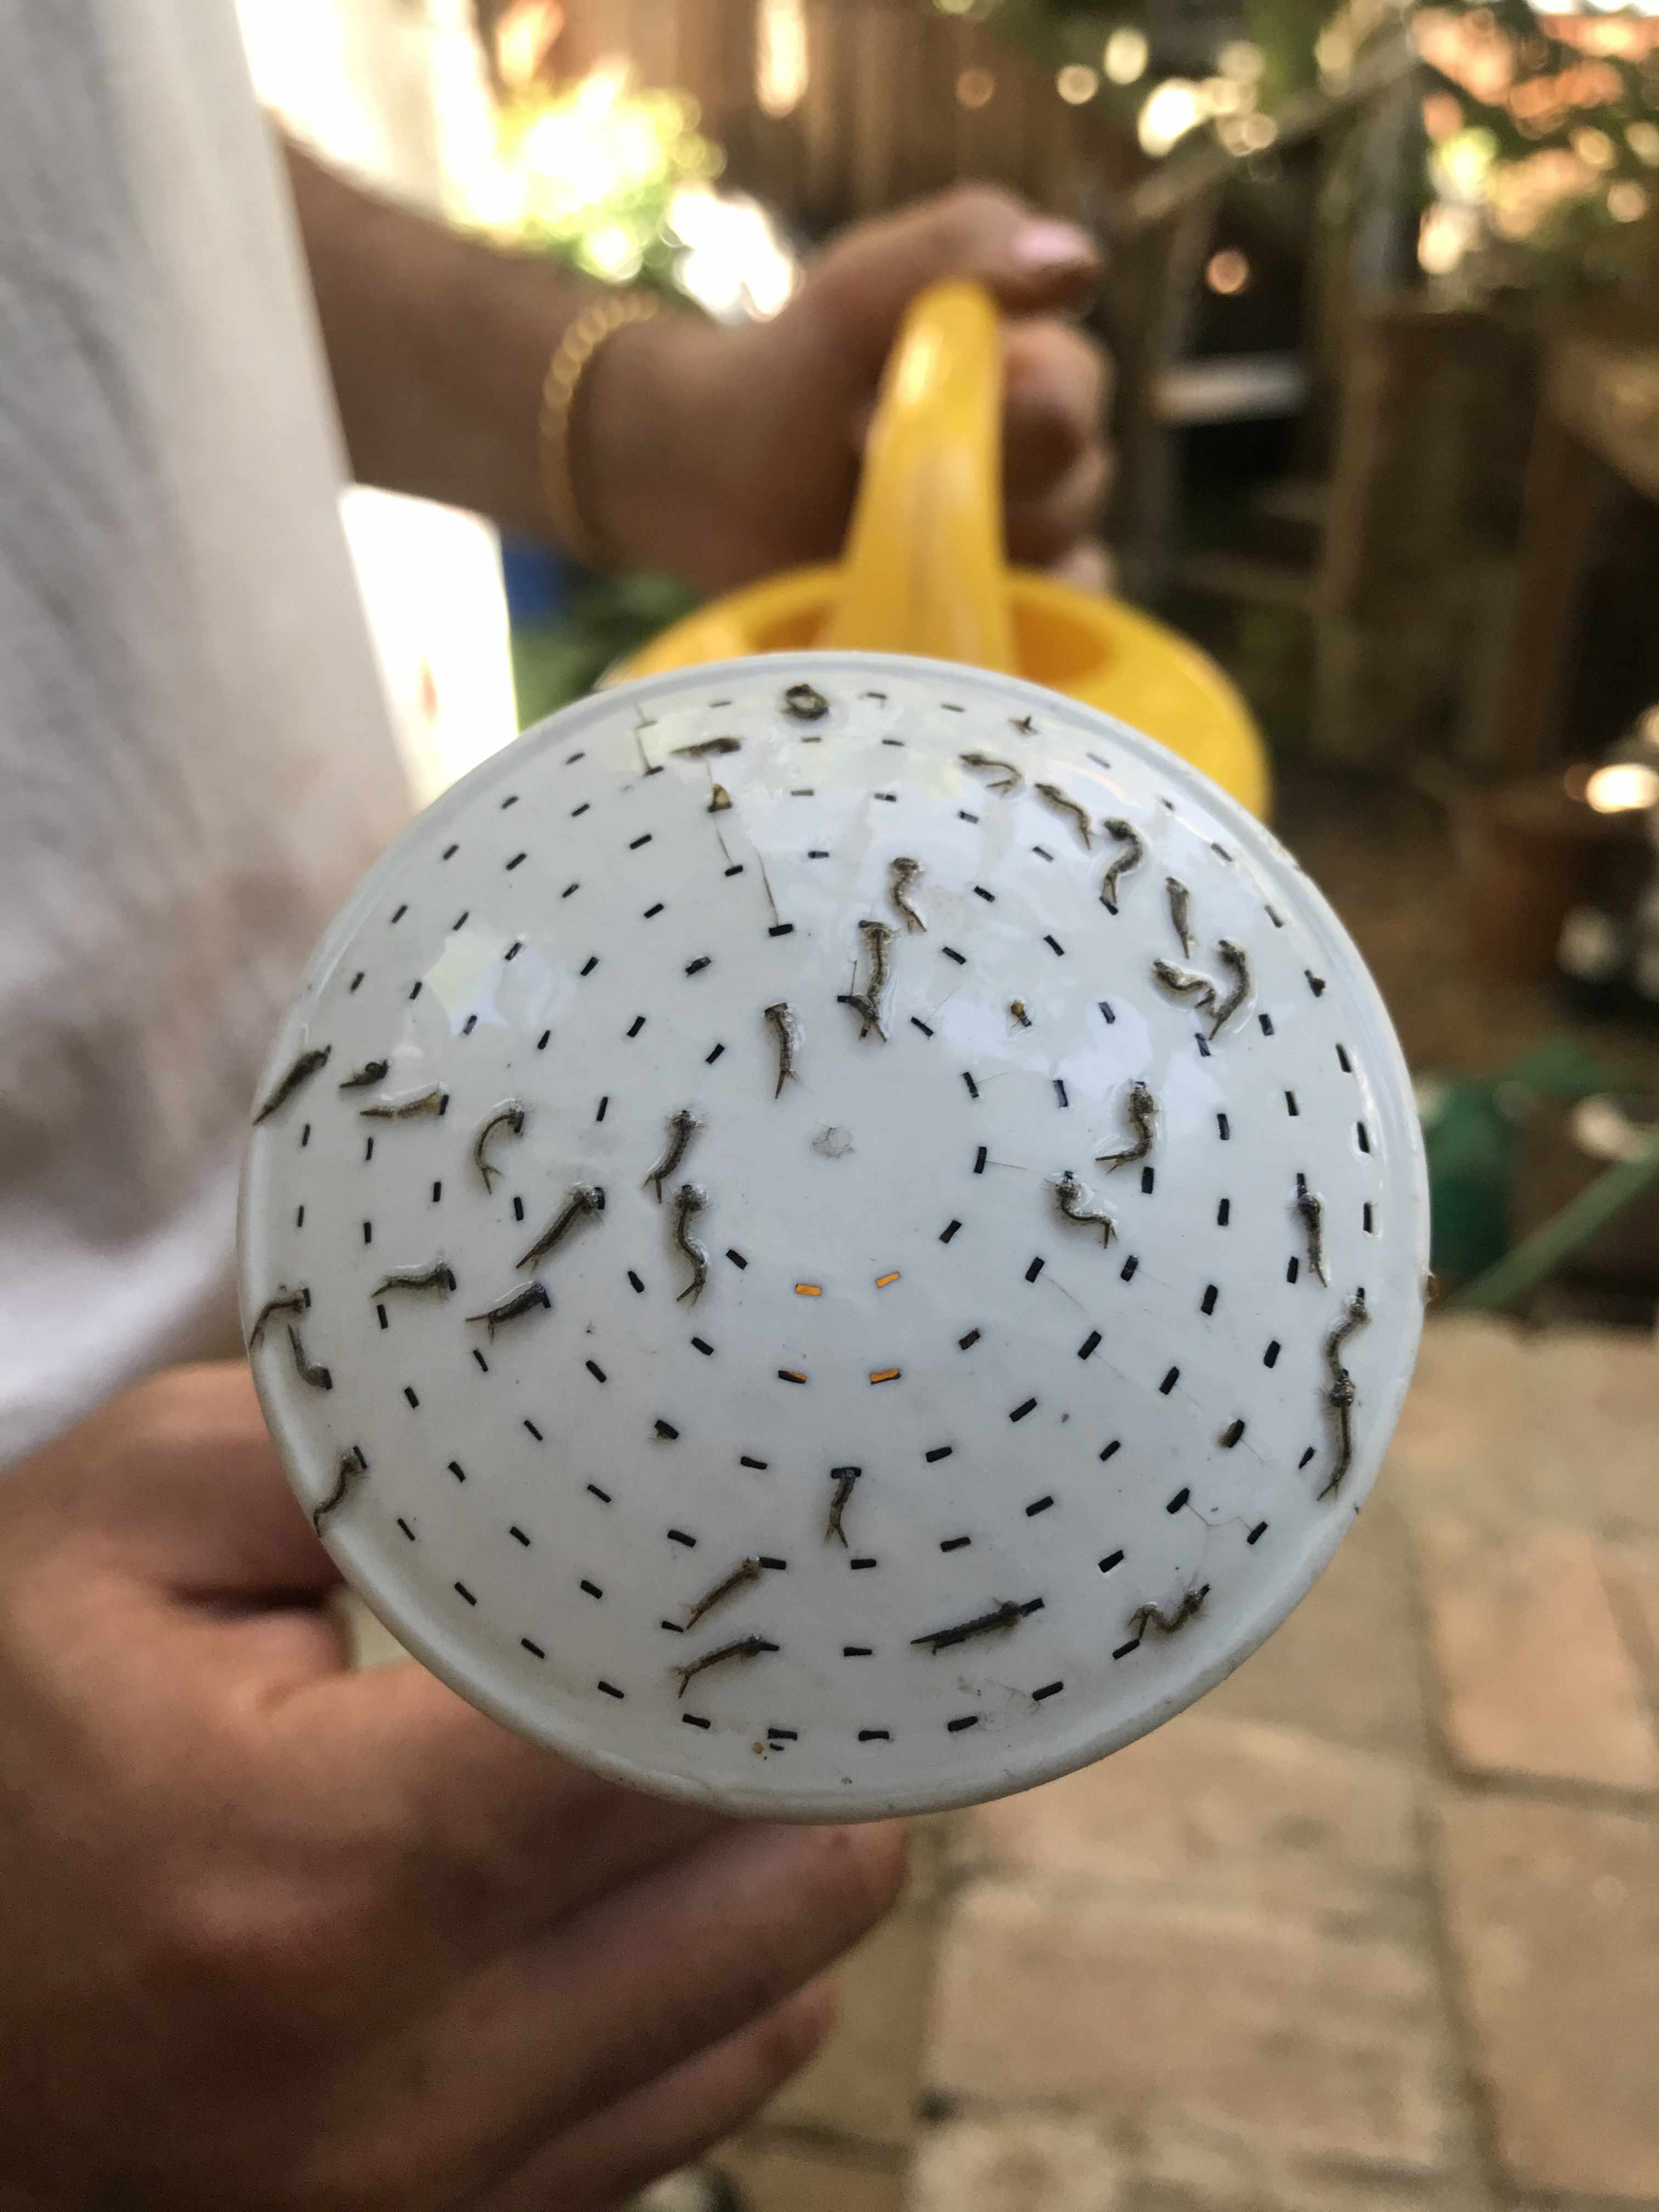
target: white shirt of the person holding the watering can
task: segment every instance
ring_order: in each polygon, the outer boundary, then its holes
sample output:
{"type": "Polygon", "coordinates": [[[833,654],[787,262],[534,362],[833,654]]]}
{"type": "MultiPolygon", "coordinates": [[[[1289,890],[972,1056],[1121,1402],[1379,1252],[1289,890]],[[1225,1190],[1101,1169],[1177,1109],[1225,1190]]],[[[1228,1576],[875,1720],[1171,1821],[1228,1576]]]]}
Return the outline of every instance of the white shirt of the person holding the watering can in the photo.
{"type": "Polygon", "coordinates": [[[228,4],[0,0],[0,1464],[234,1352],[252,1086],[405,816],[228,4]]]}

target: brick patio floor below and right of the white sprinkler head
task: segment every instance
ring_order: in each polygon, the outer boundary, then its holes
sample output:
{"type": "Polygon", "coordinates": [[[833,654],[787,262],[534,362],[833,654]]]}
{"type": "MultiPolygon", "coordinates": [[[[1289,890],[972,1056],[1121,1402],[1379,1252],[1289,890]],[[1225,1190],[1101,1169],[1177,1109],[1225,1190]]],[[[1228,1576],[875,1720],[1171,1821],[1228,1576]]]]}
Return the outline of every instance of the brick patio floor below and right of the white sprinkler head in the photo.
{"type": "Polygon", "coordinates": [[[927,1825],[726,2163],[757,2212],[1659,2212],[1655,1712],[1659,1347],[1438,1321],[1314,1595],[927,1825]]]}

